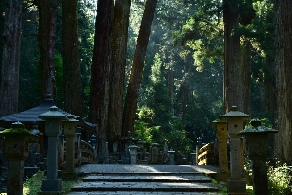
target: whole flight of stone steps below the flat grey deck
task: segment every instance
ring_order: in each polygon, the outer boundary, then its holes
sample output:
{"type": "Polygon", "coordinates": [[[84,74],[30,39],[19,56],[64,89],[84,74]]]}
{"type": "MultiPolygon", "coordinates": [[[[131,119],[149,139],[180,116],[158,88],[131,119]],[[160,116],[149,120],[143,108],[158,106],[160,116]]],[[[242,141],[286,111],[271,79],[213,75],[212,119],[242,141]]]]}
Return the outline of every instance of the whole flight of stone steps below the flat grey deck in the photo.
{"type": "MultiPolygon", "coordinates": [[[[199,195],[218,194],[219,188],[202,172],[102,172],[85,177],[69,194],[86,195],[199,195]]],[[[219,194],[218,194],[219,195],[219,194]]]]}

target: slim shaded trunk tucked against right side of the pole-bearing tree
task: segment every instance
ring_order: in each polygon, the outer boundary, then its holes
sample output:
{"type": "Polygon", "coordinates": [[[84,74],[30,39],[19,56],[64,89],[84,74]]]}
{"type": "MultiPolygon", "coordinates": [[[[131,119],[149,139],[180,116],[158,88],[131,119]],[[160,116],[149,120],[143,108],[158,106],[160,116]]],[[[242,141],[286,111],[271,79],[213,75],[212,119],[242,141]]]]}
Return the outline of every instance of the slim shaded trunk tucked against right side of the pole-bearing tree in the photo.
{"type": "Polygon", "coordinates": [[[251,42],[244,38],[243,51],[241,53],[241,77],[244,99],[242,111],[247,115],[251,114],[251,48],[251,42]]]}

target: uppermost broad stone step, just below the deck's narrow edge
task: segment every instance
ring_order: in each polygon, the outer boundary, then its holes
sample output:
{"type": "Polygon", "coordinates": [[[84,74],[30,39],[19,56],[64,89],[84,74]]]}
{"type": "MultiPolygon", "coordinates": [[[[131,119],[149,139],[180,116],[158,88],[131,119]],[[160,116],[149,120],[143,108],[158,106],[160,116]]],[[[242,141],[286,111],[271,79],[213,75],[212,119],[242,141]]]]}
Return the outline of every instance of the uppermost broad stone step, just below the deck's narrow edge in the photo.
{"type": "Polygon", "coordinates": [[[211,182],[204,176],[88,176],[84,182],[211,182]]]}

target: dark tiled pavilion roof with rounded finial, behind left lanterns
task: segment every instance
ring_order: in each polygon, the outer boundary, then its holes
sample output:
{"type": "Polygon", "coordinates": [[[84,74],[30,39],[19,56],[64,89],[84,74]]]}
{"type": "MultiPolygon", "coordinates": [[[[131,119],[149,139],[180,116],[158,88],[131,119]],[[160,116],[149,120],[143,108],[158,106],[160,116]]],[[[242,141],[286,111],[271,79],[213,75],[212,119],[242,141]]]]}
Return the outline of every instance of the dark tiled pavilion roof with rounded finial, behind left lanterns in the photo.
{"type": "MultiPolygon", "coordinates": [[[[7,128],[7,127],[11,127],[11,124],[13,122],[19,121],[26,126],[28,125],[28,127],[29,127],[30,125],[32,126],[32,121],[38,120],[39,126],[44,126],[45,120],[40,119],[39,115],[46,113],[46,112],[49,112],[50,108],[52,106],[56,106],[56,102],[53,101],[53,99],[51,99],[51,97],[52,97],[51,94],[47,94],[47,98],[42,100],[41,105],[39,105],[35,108],[29,109],[29,110],[21,112],[21,113],[0,117],[0,125],[2,127],[7,128]]],[[[58,111],[65,116],[70,115],[69,113],[61,110],[60,108],[58,111]]],[[[90,122],[83,121],[81,116],[73,115],[73,118],[80,121],[81,129],[84,131],[91,132],[92,130],[94,130],[98,126],[96,124],[92,124],[90,122]]]]}

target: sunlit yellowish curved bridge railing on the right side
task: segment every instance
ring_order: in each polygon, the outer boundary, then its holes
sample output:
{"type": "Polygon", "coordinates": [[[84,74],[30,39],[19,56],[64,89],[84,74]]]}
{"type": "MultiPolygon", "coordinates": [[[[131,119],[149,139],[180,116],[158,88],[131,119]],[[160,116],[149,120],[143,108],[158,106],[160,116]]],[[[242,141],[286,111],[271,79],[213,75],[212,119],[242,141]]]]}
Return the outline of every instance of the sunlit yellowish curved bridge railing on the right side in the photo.
{"type": "Polygon", "coordinates": [[[204,145],[199,151],[198,165],[214,164],[214,142],[204,145]]]}

